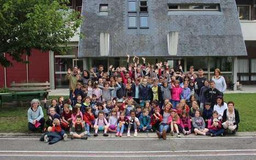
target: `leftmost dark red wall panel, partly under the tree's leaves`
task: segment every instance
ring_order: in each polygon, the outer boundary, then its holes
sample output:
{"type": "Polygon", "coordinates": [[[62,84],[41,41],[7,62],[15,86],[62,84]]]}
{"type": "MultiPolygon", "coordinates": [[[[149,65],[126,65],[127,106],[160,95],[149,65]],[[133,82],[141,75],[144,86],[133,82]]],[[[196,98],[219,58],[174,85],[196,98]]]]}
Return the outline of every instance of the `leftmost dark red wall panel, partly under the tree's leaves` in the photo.
{"type": "MultiPolygon", "coordinates": [[[[16,62],[12,60],[12,58],[8,54],[5,55],[6,58],[10,60],[13,64],[13,66],[6,68],[7,87],[9,87],[10,83],[12,83],[13,81],[15,81],[15,83],[26,82],[26,64],[16,62]]],[[[23,55],[22,58],[26,60],[26,55],[23,55]]]]}

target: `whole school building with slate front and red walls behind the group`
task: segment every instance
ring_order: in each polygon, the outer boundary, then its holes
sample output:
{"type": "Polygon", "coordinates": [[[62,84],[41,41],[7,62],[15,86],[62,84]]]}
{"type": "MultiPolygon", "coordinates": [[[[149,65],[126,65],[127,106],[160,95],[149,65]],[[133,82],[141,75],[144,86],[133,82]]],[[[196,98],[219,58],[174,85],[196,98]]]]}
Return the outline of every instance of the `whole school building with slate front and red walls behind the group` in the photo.
{"type": "Polygon", "coordinates": [[[73,37],[67,55],[32,53],[30,64],[44,59],[40,64],[45,73],[32,72],[32,66],[18,63],[12,68],[0,67],[0,75],[5,77],[5,81],[0,79],[1,86],[8,87],[13,81],[49,81],[53,89],[67,88],[67,68],[120,66],[126,63],[127,53],[146,56],[150,63],[168,61],[174,67],[180,60],[185,71],[191,65],[196,70],[203,68],[208,78],[219,67],[228,85],[256,82],[254,1],[84,0],[82,5],[82,0],[74,0],[70,4],[82,10],[81,33],[86,37],[73,37]],[[14,77],[15,71],[25,76],[14,77]]]}

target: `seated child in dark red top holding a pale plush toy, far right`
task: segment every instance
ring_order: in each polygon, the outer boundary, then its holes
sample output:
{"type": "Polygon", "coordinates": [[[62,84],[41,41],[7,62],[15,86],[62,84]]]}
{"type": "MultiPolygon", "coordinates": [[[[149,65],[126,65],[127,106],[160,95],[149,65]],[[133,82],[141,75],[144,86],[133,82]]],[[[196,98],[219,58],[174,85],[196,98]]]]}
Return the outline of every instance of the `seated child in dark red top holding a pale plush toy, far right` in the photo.
{"type": "Polygon", "coordinates": [[[223,136],[224,129],[221,126],[221,121],[218,119],[217,111],[213,111],[213,117],[208,120],[208,129],[209,131],[206,133],[206,135],[223,136]]]}

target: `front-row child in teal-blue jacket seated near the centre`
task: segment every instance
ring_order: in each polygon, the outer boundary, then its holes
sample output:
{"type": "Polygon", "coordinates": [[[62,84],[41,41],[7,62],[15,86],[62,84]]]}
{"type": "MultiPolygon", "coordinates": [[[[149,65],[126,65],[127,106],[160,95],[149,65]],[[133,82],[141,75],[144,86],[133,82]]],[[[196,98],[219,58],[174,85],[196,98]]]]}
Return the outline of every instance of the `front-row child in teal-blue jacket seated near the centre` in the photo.
{"type": "Polygon", "coordinates": [[[140,115],[139,118],[140,121],[140,132],[149,132],[149,130],[152,128],[150,125],[151,118],[149,116],[149,110],[146,108],[143,109],[143,113],[140,115]]]}

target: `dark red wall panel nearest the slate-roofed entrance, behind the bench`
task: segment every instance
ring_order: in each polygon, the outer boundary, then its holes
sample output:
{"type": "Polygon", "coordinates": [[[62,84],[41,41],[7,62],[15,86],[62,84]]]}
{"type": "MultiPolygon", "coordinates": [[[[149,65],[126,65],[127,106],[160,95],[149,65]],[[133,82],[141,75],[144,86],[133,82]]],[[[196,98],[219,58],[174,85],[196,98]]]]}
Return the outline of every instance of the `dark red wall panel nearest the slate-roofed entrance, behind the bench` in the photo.
{"type": "Polygon", "coordinates": [[[32,49],[29,60],[29,81],[45,82],[49,81],[49,52],[41,52],[32,49]]]}

